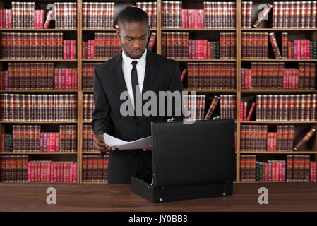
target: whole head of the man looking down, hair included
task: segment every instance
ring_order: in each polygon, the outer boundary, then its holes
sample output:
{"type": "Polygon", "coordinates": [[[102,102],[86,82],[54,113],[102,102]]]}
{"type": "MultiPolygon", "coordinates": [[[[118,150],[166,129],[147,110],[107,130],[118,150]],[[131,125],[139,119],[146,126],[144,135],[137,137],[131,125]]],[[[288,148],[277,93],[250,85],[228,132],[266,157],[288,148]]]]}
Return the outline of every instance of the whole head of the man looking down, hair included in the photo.
{"type": "Polygon", "coordinates": [[[148,15],[140,8],[128,7],[119,13],[117,19],[116,35],[121,40],[124,53],[132,59],[140,58],[150,35],[148,15]]]}

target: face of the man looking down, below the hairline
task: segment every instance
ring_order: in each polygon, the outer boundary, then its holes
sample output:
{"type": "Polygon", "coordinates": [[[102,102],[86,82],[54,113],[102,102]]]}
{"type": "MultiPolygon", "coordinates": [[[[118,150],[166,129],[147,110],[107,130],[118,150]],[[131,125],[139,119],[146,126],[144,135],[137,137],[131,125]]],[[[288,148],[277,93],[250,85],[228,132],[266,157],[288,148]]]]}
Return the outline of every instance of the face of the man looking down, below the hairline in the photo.
{"type": "Polygon", "coordinates": [[[124,53],[132,59],[138,59],[148,44],[150,27],[146,22],[123,22],[116,35],[121,40],[124,53]]]}

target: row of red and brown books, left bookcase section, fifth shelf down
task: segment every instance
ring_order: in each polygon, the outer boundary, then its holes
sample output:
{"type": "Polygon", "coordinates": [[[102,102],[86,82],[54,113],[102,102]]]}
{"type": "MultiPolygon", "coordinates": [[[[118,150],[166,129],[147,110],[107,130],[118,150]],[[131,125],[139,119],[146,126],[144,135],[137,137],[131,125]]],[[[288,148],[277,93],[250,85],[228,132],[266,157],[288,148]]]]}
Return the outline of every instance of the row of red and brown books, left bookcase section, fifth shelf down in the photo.
{"type": "MultiPolygon", "coordinates": [[[[76,152],[77,126],[59,125],[59,132],[41,132],[40,125],[13,125],[12,139],[8,140],[13,142],[12,152],[76,152]]],[[[6,136],[1,136],[0,151],[10,151],[6,142],[6,136]]]]}

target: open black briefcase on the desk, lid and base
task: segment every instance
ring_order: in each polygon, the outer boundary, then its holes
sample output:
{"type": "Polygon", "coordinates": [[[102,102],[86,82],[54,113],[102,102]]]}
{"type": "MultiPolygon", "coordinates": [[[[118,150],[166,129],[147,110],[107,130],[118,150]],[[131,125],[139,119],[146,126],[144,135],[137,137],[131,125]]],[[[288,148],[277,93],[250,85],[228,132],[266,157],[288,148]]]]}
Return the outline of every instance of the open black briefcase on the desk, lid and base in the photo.
{"type": "Polygon", "coordinates": [[[152,202],[229,196],[234,180],[234,119],[152,123],[153,175],[131,177],[152,202]]]}

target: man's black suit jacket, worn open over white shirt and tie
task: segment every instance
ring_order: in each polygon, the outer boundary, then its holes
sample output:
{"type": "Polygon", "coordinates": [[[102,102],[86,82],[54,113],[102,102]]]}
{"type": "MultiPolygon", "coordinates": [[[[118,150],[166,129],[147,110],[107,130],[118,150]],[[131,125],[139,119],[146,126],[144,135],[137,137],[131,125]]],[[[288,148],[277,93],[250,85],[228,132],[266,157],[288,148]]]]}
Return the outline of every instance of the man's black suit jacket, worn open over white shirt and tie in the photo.
{"type": "MultiPolygon", "coordinates": [[[[145,78],[142,94],[152,90],[158,92],[178,90],[181,92],[181,74],[177,61],[167,59],[159,54],[147,50],[145,78]]],[[[166,121],[173,117],[176,121],[182,117],[175,116],[122,116],[120,106],[126,100],[120,100],[123,91],[127,91],[122,72],[122,52],[95,67],[93,76],[95,109],[92,116],[92,130],[98,136],[108,133],[124,141],[133,141],[151,136],[151,122],[166,121]]],[[[148,100],[143,100],[143,104],[148,100]]],[[[166,105],[165,105],[166,109],[166,105]]],[[[107,141],[105,141],[107,143],[107,141]]],[[[152,169],[152,152],[142,150],[116,150],[109,153],[108,182],[130,183],[131,175],[138,172],[139,162],[152,169]]]]}

